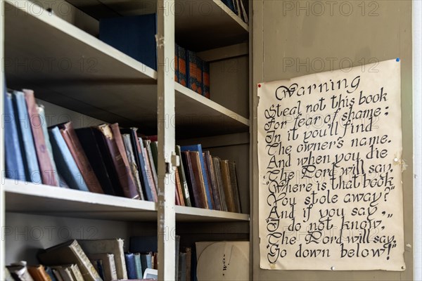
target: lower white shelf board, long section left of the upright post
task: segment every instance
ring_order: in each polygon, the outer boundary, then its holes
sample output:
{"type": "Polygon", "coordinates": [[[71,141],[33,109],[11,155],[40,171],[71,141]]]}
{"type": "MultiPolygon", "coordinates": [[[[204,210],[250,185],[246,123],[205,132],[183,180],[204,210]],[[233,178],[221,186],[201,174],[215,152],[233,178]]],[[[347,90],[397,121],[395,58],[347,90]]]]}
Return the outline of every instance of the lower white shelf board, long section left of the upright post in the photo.
{"type": "Polygon", "coordinates": [[[102,195],[68,188],[6,179],[6,211],[97,218],[118,221],[156,221],[154,202],[102,195]]]}

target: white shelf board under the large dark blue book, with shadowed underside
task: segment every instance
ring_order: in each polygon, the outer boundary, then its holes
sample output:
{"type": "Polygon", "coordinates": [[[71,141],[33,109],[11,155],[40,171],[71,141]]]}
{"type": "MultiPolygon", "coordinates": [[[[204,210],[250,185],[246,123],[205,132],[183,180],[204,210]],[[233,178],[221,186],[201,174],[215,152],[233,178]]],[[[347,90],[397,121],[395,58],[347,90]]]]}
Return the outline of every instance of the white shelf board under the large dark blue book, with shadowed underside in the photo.
{"type": "MultiPolygon", "coordinates": [[[[25,1],[26,3],[30,3],[25,1]]],[[[10,88],[85,115],[157,129],[157,72],[34,4],[6,1],[5,68],[10,88]]],[[[236,112],[176,87],[177,136],[245,132],[249,121],[236,112]]]]}

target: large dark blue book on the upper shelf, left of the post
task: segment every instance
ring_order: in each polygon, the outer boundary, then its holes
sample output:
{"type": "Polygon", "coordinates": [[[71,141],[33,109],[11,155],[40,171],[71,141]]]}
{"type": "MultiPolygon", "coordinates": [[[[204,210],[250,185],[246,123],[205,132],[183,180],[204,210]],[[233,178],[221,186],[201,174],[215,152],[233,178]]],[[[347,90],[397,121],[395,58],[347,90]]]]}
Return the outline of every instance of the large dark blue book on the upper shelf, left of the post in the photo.
{"type": "Polygon", "coordinates": [[[157,70],[157,16],[134,15],[100,20],[100,40],[157,70]]]}

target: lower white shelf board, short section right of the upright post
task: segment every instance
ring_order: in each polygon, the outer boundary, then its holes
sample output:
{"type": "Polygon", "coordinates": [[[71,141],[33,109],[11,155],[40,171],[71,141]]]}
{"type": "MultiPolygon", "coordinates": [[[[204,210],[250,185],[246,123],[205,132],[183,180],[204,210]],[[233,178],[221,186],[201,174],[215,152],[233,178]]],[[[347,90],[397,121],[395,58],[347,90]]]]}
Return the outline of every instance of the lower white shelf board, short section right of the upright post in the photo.
{"type": "Polygon", "coordinates": [[[249,221],[248,214],[231,213],[194,207],[174,206],[178,222],[249,221]]]}

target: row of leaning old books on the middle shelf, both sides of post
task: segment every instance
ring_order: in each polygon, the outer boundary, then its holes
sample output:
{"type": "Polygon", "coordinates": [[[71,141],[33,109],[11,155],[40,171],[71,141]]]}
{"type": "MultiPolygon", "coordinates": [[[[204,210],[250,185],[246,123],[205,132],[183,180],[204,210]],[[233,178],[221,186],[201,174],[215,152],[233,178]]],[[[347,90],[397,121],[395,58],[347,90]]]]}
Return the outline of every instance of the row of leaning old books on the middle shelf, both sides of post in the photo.
{"type": "MultiPolygon", "coordinates": [[[[136,128],[101,124],[47,128],[31,90],[5,91],[6,177],[158,202],[158,142],[136,128]]],[[[181,206],[241,212],[236,164],[200,144],[177,146],[172,179],[181,206]]]]}

